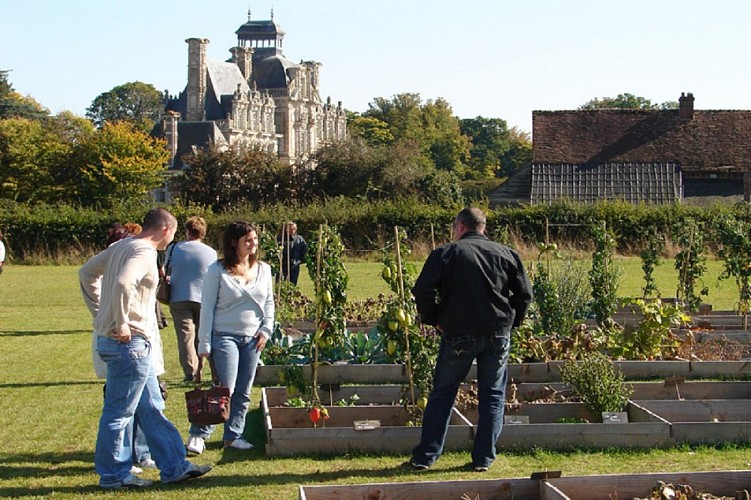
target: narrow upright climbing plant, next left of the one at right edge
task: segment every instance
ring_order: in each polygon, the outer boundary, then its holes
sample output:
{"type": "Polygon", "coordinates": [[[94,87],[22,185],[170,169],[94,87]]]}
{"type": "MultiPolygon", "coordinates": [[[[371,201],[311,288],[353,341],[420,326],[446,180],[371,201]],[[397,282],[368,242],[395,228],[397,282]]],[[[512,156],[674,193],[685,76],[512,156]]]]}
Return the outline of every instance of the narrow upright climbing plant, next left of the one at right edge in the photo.
{"type": "Polygon", "coordinates": [[[681,251],[675,256],[675,269],[678,271],[676,295],[691,312],[699,310],[701,296],[709,294],[704,286],[696,292],[697,282],[707,271],[707,257],[704,247],[704,228],[694,220],[688,220],[674,228],[676,243],[681,251]]]}

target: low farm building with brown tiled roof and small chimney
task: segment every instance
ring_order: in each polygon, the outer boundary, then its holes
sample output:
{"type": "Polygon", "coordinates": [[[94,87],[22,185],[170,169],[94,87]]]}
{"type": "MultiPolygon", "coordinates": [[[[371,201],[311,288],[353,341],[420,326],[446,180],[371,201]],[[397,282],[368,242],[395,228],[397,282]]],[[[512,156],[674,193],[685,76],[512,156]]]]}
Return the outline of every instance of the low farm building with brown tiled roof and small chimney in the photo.
{"type": "MultiPolygon", "coordinates": [[[[695,110],[689,93],[674,110],[535,111],[532,127],[532,166],[507,200],[673,203],[751,194],[751,111],[695,110]]],[[[503,198],[496,193],[497,203],[503,198]]]]}

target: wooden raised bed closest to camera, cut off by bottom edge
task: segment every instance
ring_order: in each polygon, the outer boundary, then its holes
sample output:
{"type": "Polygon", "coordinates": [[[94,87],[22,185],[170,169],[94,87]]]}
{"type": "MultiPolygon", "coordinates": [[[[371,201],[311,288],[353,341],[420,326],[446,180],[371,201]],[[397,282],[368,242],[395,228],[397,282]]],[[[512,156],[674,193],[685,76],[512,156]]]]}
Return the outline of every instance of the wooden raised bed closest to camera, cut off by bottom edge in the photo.
{"type": "MultiPolygon", "coordinates": [[[[544,474],[543,474],[544,475],[544,474]]],[[[665,472],[570,476],[551,479],[485,479],[476,481],[420,481],[402,483],[301,486],[301,500],[569,500],[647,498],[662,481],[687,484],[694,491],[735,498],[737,491],[751,490],[751,471],[665,472]]]]}

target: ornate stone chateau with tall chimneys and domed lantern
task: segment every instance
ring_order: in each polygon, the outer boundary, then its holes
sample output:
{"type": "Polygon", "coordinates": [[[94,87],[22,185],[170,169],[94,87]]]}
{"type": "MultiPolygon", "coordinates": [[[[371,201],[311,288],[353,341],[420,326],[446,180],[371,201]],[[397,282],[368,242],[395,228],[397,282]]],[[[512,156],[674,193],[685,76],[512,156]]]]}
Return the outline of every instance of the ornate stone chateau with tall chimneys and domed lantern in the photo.
{"type": "Polygon", "coordinates": [[[170,170],[195,148],[250,147],[291,165],[327,142],[346,137],[341,102],[321,100],[321,64],[294,63],[282,52],[284,31],[271,19],[240,26],[227,61],[207,57],[209,40],[189,38],[188,82],[179,96],[165,96],[154,134],[167,140],[170,170]]]}

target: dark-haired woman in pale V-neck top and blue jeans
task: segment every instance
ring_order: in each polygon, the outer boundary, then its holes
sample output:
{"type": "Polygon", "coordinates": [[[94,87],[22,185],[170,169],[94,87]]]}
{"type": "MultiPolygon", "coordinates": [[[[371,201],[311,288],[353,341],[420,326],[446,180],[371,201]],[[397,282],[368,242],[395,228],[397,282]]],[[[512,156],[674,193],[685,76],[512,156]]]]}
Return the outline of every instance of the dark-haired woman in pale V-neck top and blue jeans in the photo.
{"type": "MultiPolygon", "coordinates": [[[[224,258],[211,264],[201,294],[198,355],[211,355],[221,384],[229,387],[224,446],[249,450],[242,438],[258,359],[274,328],[271,268],[258,260],[258,232],[238,221],[224,232],[224,258]]],[[[213,426],[190,426],[187,450],[200,454],[213,426]]]]}

